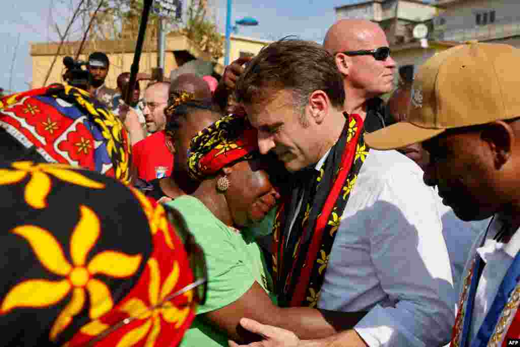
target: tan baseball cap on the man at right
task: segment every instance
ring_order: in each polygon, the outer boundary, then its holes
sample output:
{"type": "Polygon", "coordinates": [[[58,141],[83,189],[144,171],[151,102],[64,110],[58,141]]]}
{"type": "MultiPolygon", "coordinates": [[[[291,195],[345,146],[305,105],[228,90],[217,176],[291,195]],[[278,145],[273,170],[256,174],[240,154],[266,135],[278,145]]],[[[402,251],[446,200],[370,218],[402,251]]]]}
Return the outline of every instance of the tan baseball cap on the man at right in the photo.
{"type": "Polygon", "coordinates": [[[450,128],[520,117],[520,49],[470,43],[428,59],[412,86],[406,122],[365,135],[374,149],[423,142],[450,128]]]}

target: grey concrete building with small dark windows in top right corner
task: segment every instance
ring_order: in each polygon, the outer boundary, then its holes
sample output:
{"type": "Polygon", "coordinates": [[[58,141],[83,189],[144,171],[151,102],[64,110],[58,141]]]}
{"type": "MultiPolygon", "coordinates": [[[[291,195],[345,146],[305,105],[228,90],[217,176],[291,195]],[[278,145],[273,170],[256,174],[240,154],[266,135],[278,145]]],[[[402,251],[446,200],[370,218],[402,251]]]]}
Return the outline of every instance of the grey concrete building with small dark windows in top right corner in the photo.
{"type": "Polygon", "coordinates": [[[439,40],[507,43],[520,46],[518,0],[438,0],[432,37],[439,40]]]}

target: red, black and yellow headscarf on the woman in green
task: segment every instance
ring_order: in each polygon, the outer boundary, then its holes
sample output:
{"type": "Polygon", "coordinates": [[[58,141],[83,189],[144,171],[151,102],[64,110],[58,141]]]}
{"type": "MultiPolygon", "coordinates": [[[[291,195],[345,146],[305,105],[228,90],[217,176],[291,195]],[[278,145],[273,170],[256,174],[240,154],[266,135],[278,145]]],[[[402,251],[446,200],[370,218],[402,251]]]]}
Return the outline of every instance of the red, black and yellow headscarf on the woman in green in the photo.
{"type": "Polygon", "coordinates": [[[229,114],[191,139],[188,170],[202,180],[224,166],[252,159],[258,154],[257,131],[245,117],[229,114]]]}

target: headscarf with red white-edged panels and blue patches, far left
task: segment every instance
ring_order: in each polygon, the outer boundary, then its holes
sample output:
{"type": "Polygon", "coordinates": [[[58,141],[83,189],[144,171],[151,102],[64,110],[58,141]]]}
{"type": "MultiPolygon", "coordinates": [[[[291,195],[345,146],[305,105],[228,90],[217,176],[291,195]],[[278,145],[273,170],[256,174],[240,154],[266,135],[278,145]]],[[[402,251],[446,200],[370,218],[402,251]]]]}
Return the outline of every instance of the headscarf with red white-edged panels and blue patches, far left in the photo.
{"type": "Polygon", "coordinates": [[[131,147],[119,118],[82,89],[51,85],[0,99],[0,126],[47,162],[130,182],[131,147]]]}

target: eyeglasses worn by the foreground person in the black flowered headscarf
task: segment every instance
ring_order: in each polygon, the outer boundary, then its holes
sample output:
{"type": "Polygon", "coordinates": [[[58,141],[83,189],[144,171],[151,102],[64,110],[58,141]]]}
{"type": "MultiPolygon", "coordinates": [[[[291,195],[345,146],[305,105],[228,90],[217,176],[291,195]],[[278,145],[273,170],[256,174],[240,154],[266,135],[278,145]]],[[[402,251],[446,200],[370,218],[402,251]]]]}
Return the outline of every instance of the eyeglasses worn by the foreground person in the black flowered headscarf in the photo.
{"type": "MultiPolygon", "coordinates": [[[[183,242],[184,249],[188,254],[188,260],[190,263],[190,268],[193,273],[194,281],[187,285],[184,288],[177,290],[175,293],[172,293],[165,297],[160,303],[150,306],[146,309],[145,312],[157,310],[160,307],[164,306],[168,301],[182,295],[192,289],[194,289],[193,302],[203,305],[206,302],[206,293],[207,293],[207,267],[206,267],[206,259],[204,257],[204,252],[199,244],[195,241],[193,234],[190,233],[186,221],[184,217],[180,214],[176,209],[164,205],[164,210],[166,211],[166,217],[168,221],[174,226],[174,230],[180,240],[183,242]]],[[[142,312],[144,313],[144,312],[142,312]]],[[[141,312],[135,314],[133,316],[124,318],[120,320],[118,323],[110,326],[106,330],[100,332],[94,338],[90,339],[88,342],[84,343],[81,347],[93,347],[97,342],[109,336],[115,330],[130,324],[142,315],[141,312]]]]}

